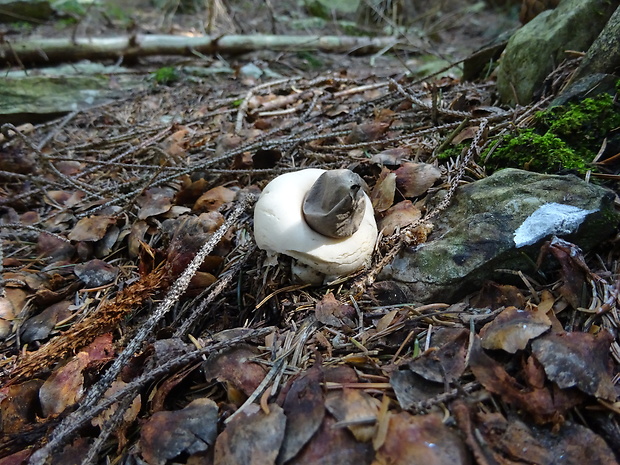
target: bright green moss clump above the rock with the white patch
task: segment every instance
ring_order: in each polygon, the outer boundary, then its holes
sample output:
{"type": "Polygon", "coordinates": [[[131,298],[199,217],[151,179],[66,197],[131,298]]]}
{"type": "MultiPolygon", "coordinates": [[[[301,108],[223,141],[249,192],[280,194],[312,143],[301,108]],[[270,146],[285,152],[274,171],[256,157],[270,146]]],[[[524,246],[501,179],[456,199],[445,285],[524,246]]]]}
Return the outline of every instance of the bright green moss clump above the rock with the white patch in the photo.
{"type": "Polygon", "coordinates": [[[489,157],[487,168],[583,174],[593,169],[591,162],[603,140],[618,127],[620,111],[609,94],[554,107],[537,113],[532,128],[506,136],[489,157]]]}

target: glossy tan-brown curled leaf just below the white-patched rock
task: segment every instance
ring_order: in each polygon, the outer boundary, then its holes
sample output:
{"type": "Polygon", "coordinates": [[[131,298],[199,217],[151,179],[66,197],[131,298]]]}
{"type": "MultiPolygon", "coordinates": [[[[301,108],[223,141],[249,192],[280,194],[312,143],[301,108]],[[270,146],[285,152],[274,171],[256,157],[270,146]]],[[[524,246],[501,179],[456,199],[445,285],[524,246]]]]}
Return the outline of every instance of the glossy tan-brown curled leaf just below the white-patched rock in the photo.
{"type": "Polygon", "coordinates": [[[502,349],[514,354],[527,347],[530,340],[551,327],[551,320],[537,309],[520,310],[508,307],[480,330],[482,347],[502,349]]]}

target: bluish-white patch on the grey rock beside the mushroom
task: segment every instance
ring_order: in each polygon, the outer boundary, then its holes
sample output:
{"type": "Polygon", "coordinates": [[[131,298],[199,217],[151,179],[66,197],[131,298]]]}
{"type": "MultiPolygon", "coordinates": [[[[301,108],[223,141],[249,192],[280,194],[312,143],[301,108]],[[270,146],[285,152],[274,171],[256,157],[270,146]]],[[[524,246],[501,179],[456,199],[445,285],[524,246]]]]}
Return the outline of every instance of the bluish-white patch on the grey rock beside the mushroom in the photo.
{"type": "Polygon", "coordinates": [[[535,244],[546,236],[571,234],[589,214],[596,211],[555,202],[541,205],[514,232],[515,245],[523,247],[535,244]]]}

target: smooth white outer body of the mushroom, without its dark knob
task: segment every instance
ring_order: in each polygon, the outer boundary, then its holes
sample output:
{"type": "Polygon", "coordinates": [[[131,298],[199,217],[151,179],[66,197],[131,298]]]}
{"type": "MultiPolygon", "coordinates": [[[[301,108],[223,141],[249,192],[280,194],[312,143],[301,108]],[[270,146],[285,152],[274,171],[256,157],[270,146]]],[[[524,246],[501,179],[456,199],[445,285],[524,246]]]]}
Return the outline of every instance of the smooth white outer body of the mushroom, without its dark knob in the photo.
{"type": "Polygon", "coordinates": [[[344,276],[368,265],[377,240],[372,203],[353,235],[327,237],[308,226],[302,206],[307,192],[325,170],[283,174],[263,190],[254,208],[254,236],[259,248],[282,253],[327,276],[344,276]]]}

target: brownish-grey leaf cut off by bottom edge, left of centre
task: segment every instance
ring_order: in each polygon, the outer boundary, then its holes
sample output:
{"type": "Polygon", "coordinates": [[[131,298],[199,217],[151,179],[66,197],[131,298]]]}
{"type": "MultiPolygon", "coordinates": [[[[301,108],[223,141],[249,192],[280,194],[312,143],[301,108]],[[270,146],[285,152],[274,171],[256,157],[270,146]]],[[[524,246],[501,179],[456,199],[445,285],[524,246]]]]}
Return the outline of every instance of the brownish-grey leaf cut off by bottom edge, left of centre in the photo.
{"type": "Polygon", "coordinates": [[[286,417],[279,405],[270,404],[269,413],[256,404],[241,412],[226,426],[215,443],[218,465],[274,464],[282,439],[286,417]]]}

